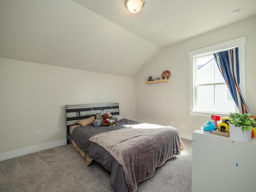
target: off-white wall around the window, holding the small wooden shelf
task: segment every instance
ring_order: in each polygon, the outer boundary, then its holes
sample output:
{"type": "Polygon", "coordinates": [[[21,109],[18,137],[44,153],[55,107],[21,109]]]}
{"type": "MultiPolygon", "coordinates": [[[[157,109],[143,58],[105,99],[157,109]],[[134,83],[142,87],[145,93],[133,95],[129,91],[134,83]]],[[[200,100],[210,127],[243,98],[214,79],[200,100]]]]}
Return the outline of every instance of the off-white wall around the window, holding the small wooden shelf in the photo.
{"type": "MultiPolygon", "coordinates": [[[[189,30],[189,29],[188,29],[189,30]]],[[[256,17],[196,36],[163,49],[136,77],[136,120],[170,125],[174,122],[180,134],[191,138],[192,132],[209,118],[189,114],[189,58],[188,52],[246,36],[246,94],[245,100],[252,114],[256,114],[256,17]],[[149,76],[161,77],[170,70],[169,82],[144,84],[149,76]],[[182,128],[182,123],[185,128],[182,128]]]]}

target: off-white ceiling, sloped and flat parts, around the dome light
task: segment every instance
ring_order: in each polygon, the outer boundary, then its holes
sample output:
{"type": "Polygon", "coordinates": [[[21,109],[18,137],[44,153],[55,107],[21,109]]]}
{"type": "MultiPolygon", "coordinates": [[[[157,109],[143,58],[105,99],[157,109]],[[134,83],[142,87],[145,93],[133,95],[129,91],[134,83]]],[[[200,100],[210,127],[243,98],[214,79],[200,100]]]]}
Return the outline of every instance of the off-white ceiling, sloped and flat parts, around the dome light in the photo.
{"type": "Polygon", "coordinates": [[[0,57],[135,77],[162,48],[254,15],[255,0],[145,0],[137,14],[124,0],[0,0],[0,57]]]}

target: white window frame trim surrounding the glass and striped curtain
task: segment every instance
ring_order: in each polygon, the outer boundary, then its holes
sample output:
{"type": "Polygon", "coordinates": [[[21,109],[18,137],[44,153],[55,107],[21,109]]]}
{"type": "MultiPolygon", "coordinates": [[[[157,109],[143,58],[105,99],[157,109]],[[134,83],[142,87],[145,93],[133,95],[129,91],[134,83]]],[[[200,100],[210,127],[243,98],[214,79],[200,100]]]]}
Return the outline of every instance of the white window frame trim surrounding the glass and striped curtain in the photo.
{"type": "MultiPolygon", "coordinates": [[[[230,40],[227,42],[223,42],[220,44],[208,46],[205,48],[201,48],[198,50],[193,50],[188,52],[189,57],[189,68],[190,68],[190,115],[194,116],[203,116],[203,117],[209,117],[210,114],[208,112],[198,112],[196,111],[196,93],[195,93],[195,78],[194,78],[194,57],[198,57],[200,55],[204,54],[213,54],[216,52],[219,52],[220,50],[228,50],[229,48],[238,46],[238,57],[239,57],[239,73],[240,73],[240,91],[242,93],[242,96],[245,99],[245,43],[246,43],[246,37],[237,38],[234,40],[230,40]]],[[[216,114],[216,113],[214,113],[216,114]]],[[[229,114],[222,113],[222,114],[216,114],[219,116],[228,116],[229,114]]]]}

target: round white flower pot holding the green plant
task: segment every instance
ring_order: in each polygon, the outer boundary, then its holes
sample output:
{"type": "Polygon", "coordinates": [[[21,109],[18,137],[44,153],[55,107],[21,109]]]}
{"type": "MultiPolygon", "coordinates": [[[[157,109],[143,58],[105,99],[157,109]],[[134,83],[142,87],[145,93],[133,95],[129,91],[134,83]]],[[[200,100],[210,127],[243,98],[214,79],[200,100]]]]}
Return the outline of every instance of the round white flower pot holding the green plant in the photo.
{"type": "Polygon", "coordinates": [[[242,127],[236,127],[233,124],[229,124],[229,137],[244,142],[251,142],[252,141],[252,126],[249,126],[250,130],[242,131],[242,127]]]}

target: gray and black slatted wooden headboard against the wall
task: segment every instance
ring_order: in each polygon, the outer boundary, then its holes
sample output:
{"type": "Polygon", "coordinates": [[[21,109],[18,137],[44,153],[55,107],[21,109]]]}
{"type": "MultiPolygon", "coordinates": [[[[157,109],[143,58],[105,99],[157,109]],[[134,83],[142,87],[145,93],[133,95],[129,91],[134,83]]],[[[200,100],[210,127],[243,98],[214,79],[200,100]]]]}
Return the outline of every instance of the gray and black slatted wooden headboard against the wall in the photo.
{"type": "Polygon", "coordinates": [[[66,105],[67,144],[71,143],[70,129],[72,125],[76,125],[76,121],[95,116],[102,110],[119,115],[119,103],[66,105]]]}

